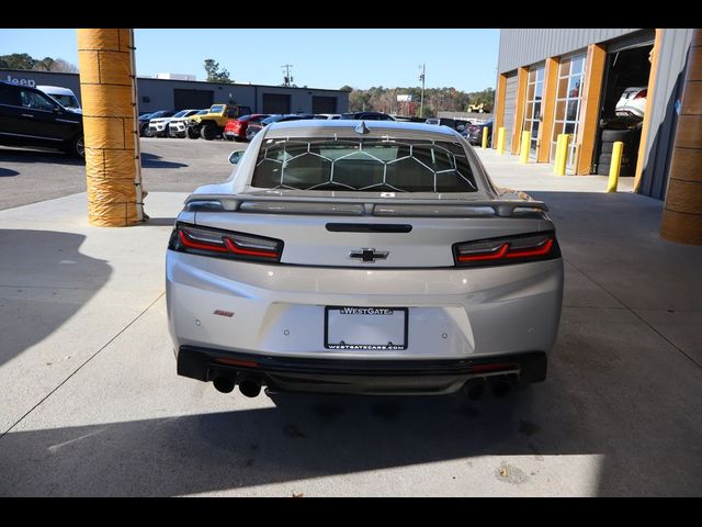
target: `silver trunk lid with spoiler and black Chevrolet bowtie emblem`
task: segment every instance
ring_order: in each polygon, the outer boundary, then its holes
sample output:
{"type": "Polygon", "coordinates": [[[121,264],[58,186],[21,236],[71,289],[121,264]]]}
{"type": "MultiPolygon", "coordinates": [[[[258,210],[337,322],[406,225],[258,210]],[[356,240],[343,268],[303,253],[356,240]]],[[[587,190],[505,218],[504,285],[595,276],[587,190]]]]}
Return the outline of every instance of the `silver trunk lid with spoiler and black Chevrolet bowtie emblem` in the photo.
{"type": "Polygon", "coordinates": [[[543,220],[542,202],[524,199],[336,193],[372,197],[193,194],[186,210],[199,226],[281,239],[281,264],[369,270],[451,267],[454,244],[537,232],[550,223],[543,220]]]}

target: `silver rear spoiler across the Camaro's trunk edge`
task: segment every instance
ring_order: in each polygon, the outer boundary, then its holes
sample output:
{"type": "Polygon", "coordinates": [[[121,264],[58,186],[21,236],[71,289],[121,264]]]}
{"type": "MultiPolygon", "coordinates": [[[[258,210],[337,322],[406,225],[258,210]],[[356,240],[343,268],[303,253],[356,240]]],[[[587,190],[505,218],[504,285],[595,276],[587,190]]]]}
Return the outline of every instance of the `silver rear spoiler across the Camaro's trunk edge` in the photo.
{"type": "Polygon", "coordinates": [[[314,197],[267,197],[250,194],[190,194],[186,211],[252,212],[259,214],[305,214],[339,216],[443,216],[465,217],[497,215],[509,217],[514,211],[547,211],[543,201],[526,194],[509,193],[522,199],[497,200],[419,200],[419,199],[353,199],[314,197]]]}

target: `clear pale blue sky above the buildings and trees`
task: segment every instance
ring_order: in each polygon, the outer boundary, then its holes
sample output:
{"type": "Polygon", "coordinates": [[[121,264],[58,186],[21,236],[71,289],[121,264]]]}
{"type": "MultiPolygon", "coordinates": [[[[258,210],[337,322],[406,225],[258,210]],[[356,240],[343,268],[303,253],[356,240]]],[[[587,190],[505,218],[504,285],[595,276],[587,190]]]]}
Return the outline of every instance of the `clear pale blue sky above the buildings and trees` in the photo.
{"type": "MultiPolygon", "coordinates": [[[[339,89],[420,86],[463,91],[495,88],[499,30],[137,29],[137,75],[191,74],[205,80],[213,58],[236,82],[280,85],[291,64],[294,83],[339,89]]],[[[29,53],[78,65],[75,30],[0,30],[0,55],[29,53]]]]}

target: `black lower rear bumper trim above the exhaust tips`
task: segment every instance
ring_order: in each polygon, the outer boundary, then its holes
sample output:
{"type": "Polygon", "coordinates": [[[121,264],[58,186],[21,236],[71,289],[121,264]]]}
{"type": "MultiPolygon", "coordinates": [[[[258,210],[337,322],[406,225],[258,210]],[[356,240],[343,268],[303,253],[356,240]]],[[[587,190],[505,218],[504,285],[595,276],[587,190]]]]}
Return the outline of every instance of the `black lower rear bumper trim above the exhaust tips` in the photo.
{"type": "Polygon", "coordinates": [[[473,379],[507,377],[519,382],[541,382],[546,377],[546,362],[543,351],[506,355],[498,359],[339,360],[182,346],[178,352],[178,374],[204,382],[219,377],[237,383],[253,380],[272,391],[444,394],[461,390],[473,379]]]}

